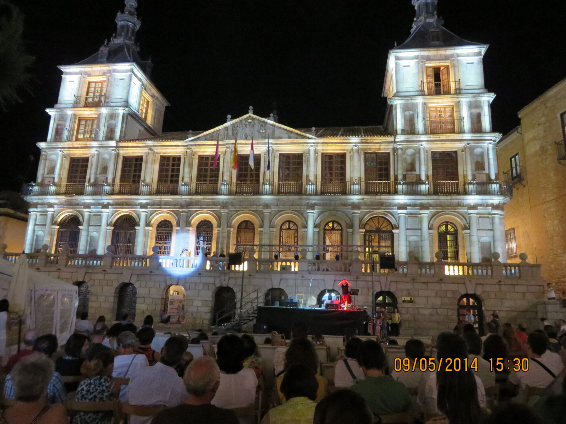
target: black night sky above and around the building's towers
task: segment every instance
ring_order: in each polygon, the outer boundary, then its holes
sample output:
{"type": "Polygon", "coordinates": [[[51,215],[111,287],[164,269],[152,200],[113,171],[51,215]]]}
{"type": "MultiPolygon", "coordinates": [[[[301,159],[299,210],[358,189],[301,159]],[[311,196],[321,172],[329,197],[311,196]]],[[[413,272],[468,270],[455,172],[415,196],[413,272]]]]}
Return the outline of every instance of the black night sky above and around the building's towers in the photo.
{"type": "MultiPolygon", "coordinates": [[[[0,189],[35,179],[57,102],[59,64],[98,51],[115,31],[122,0],[15,1],[36,57],[33,95],[0,111],[0,189]],[[34,159],[29,167],[29,155],[34,159]]],[[[410,0],[139,0],[138,42],[152,80],[171,103],[164,131],[213,128],[247,113],[294,128],[381,125],[388,50],[410,33],[410,0]]],[[[444,26],[490,44],[486,86],[497,97],[494,130],[519,124],[517,111],[566,77],[564,0],[440,0],[444,26]]]]}

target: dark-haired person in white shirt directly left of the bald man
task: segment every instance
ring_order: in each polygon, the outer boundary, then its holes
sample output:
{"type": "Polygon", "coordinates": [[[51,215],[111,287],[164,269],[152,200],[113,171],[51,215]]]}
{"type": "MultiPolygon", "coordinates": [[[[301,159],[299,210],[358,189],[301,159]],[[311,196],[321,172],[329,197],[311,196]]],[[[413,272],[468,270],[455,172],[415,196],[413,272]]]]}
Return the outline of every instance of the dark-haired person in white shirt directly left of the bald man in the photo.
{"type": "MultiPolygon", "coordinates": [[[[128,384],[128,403],[130,405],[165,405],[168,408],[185,402],[187,390],[183,379],[174,367],[181,362],[187,351],[188,341],[183,336],[174,336],[161,349],[157,364],[141,367],[128,384]]],[[[150,424],[151,417],[132,415],[130,424],[150,424]]]]}

